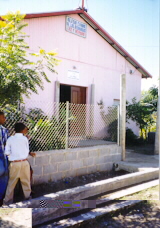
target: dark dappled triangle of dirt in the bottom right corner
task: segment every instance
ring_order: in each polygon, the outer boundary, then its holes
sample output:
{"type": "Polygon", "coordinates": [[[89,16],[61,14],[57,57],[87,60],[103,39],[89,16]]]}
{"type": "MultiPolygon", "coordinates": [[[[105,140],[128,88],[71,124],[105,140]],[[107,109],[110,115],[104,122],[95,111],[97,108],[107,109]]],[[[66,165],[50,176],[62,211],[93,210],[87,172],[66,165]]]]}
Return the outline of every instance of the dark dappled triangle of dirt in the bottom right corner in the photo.
{"type": "Polygon", "coordinates": [[[127,210],[104,216],[80,228],[159,228],[160,203],[145,201],[127,210]]]}

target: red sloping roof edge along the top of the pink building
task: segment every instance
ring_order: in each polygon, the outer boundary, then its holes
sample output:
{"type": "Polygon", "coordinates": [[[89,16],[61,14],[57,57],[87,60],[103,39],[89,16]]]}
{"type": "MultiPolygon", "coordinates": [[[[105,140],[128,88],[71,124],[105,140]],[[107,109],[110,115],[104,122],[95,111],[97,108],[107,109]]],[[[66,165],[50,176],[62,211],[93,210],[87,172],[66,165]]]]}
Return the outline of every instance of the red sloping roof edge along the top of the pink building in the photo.
{"type": "Polygon", "coordinates": [[[112,36],[109,35],[86,11],[82,9],[60,11],[60,12],[48,12],[48,13],[33,13],[27,14],[26,19],[50,17],[50,16],[62,16],[69,14],[78,14],[83,18],[87,24],[89,24],[106,42],[108,42],[116,51],[118,51],[129,63],[131,63],[141,74],[142,78],[152,78],[152,75],[145,70],[112,36]]]}

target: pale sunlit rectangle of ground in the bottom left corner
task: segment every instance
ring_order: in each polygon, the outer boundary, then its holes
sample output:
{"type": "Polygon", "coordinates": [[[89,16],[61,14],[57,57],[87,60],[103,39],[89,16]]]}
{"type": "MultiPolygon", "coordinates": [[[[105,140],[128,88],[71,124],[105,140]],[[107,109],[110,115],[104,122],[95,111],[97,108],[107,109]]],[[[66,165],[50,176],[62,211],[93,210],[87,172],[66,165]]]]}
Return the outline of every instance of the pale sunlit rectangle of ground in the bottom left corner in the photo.
{"type": "Polygon", "coordinates": [[[2,208],[0,209],[1,228],[31,228],[31,208],[2,208]]]}

